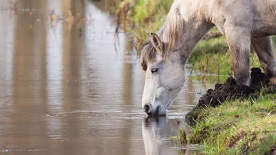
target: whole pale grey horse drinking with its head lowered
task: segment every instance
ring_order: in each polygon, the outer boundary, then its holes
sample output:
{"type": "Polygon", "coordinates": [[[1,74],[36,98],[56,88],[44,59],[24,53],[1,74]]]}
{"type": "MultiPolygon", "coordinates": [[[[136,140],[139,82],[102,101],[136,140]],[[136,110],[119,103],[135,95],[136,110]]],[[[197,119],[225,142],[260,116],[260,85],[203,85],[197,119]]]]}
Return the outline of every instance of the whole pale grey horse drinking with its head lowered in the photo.
{"type": "Polygon", "coordinates": [[[147,114],[166,114],[184,85],[191,51],[213,26],[226,35],[237,83],[250,83],[251,44],[270,82],[276,83],[270,37],[276,34],[276,0],[175,0],[163,27],[141,46],[147,114]]]}

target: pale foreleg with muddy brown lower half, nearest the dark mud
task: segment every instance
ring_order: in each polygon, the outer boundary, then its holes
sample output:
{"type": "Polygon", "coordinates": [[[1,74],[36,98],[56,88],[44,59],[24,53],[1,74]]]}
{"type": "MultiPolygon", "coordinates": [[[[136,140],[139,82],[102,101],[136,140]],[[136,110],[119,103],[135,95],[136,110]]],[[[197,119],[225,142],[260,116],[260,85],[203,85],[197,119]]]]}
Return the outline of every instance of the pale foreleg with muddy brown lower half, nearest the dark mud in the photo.
{"type": "Polygon", "coordinates": [[[248,28],[227,28],[226,39],[233,59],[237,83],[250,85],[250,32],[248,28]]]}

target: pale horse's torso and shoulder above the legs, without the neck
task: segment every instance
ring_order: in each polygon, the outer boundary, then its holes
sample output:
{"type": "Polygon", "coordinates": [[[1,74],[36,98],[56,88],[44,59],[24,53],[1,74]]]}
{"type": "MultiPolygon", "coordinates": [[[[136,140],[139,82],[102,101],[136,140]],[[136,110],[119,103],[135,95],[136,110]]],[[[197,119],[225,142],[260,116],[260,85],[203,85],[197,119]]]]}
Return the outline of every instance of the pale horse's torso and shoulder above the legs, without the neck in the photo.
{"type": "Polygon", "coordinates": [[[250,32],[251,37],[276,34],[275,0],[207,0],[205,3],[209,5],[201,11],[207,12],[206,19],[214,23],[222,34],[226,34],[225,28],[229,26],[244,27],[250,32]]]}

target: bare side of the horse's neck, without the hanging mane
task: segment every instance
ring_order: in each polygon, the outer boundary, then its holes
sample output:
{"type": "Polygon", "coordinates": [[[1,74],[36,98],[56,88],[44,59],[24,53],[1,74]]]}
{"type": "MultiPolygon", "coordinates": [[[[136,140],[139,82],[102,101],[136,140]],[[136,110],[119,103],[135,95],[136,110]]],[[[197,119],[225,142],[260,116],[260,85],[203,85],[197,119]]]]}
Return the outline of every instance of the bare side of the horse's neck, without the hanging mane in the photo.
{"type": "Polygon", "coordinates": [[[184,22],[180,42],[175,44],[175,49],[181,48],[186,52],[191,52],[210,28],[213,28],[214,25],[206,21],[204,3],[206,0],[178,0],[172,5],[172,10],[176,8],[179,10],[181,19],[178,20],[184,22]]]}

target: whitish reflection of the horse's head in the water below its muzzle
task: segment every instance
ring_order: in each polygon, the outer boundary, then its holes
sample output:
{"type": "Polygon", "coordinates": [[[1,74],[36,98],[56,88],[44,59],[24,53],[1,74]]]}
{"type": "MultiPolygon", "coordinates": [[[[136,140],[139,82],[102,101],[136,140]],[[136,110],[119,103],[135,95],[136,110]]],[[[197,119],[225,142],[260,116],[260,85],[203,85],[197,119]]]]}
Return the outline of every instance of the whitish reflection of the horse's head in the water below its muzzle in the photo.
{"type": "MultiPolygon", "coordinates": [[[[168,122],[166,116],[155,118],[144,118],[142,123],[142,134],[144,138],[145,154],[193,154],[193,150],[179,150],[171,148],[168,137],[176,136],[177,130],[168,122]],[[175,135],[172,135],[175,134],[175,135]]],[[[172,146],[175,146],[172,144],[172,146]]]]}

